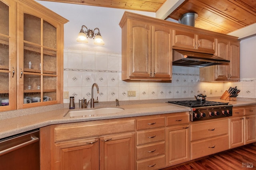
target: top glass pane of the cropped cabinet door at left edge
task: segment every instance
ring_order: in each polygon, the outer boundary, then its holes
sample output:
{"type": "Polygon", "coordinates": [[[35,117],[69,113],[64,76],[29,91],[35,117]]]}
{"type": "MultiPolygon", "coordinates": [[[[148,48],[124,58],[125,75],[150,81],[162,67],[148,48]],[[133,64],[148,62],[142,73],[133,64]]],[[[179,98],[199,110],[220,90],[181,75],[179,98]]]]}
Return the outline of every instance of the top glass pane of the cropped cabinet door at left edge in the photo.
{"type": "Polygon", "coordinates": [[[9,6],[0,1],[0,33],[9,35],[9,6]]]}

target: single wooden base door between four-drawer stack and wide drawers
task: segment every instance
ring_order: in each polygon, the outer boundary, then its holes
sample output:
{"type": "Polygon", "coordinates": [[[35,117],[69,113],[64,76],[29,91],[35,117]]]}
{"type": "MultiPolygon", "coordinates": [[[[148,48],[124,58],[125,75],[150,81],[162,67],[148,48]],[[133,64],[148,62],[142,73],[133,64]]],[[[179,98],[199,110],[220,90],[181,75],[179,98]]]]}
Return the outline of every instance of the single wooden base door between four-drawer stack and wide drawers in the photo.
{"type": "Polygon", "coordinates": [[[189,125],[166,129],[166,166],[190,160],[189,125]]]}

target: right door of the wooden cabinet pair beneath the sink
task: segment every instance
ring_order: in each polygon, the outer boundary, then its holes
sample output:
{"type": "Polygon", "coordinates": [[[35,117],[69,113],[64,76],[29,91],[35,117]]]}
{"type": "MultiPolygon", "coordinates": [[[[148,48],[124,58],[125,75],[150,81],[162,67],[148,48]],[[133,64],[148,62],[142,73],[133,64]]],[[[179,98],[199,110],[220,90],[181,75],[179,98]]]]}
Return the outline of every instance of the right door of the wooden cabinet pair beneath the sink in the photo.
{"type": "Polygon", "coordinates": [[[134,170],[134,133],[100,138],[100,170],[134,170]]]}

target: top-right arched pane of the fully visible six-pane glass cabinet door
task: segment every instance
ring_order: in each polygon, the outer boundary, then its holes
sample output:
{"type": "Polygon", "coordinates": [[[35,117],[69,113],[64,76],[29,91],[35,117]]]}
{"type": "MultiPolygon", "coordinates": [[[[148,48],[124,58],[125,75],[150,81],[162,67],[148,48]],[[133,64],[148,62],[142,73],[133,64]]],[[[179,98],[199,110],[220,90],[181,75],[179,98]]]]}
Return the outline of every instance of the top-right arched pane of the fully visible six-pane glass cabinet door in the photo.
{"type": "Polygon", "coordinates": [[[57,46],[57,29],[52,24],[44,21],[43,42],[45,47],[56,49],[57,46]]]}

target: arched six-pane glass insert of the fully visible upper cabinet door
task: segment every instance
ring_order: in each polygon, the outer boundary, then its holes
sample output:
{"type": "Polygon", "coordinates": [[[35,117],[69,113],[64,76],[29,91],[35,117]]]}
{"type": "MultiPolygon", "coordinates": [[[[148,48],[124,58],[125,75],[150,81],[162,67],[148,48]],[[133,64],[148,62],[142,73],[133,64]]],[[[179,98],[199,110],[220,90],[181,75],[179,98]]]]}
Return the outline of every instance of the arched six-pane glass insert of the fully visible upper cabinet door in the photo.
{"type": "Polygon", "coordinates": [[[54,104],[58,93],[57,28],[26,12],[23,23],[18,108],[54,104]]]}

